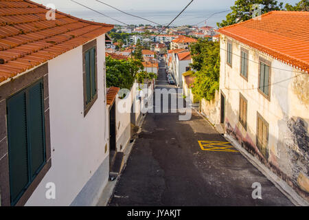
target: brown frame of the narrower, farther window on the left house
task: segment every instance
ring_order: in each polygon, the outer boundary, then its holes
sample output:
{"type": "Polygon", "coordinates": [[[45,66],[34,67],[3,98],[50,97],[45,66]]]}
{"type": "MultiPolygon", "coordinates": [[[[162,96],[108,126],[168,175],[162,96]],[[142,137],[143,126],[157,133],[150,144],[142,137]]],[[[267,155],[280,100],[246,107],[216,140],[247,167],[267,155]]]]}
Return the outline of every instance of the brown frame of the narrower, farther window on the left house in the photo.
{"type": "Polygon", "coordinates": [[[98,99],[98,48],[97,48],[97,40],[93,40],[87,44],[82,45],[82,78],[83,78],[83,90],[84,90],[84,117],[86,117],[87,113],[90,111],[91,107],[98,99]],[[86,79],[86,61],[85,61],[85,53],[95,48],[95,87],[96,92],[95,95],[91,98],[91,101],[87,103],[87,79],[86,79]]]}

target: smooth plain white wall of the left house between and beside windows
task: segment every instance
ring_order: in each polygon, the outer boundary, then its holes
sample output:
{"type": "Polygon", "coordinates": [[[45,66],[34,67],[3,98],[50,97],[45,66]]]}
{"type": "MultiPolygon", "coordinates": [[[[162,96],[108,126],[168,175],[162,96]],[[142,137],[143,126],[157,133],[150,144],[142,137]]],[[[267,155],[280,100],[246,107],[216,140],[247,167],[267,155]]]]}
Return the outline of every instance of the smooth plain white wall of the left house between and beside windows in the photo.
{"type": "Polygon", "coordinates": [[[52,167],[26,206],[69,206],[106,161],[107,167],[100,170],[100,178],[97,179],[102,181],[100,189],[108,181],[108,151],[104,152],[108,133],[104,42],[104,35],[98,37],[98,100],[86,117],[83,104],[82,46],[48,62],[52,167]],[[45,186],[49,182],[56,184],[56,199],[45,198],[45,186]]]}

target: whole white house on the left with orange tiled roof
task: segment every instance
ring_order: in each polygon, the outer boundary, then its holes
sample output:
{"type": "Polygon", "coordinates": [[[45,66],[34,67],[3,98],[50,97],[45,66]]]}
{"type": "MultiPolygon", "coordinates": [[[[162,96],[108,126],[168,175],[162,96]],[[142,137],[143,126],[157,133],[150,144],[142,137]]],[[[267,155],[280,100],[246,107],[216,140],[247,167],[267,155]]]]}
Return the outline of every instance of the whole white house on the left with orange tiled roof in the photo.
{"type": "Polygon", "coordinates": [[[109,175],[104,33],[113,25],[56,12],[62,22],[30,30],[40,18],[29,21],[23,10],[47,10],[31,1],[17,5],[1,10],[27,22],[23,33],[33,37],[5,33],[21,42],[3,47],[10,55],[0,65],[1,206],[94,205],[109,175]],[[43,41],[41,30],[49,34],[43,41]]]}

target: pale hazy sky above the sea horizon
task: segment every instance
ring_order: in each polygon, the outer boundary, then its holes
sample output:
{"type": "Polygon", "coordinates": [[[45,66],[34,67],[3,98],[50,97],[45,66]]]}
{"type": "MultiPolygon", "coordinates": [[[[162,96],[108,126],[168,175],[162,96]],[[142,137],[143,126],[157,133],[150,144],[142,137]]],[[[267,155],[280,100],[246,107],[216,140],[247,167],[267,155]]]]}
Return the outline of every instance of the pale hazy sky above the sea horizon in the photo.
{"type": "MultiPolygon", "coordinates": [[[[34,0],[37,3],[54,3],[58,10],[86,10],[80,5],[76,5],[70,0],[34,0]]],[[[76,0],[91,8],[109,10],[108,6],[96,2],[95,0],[76,0]]],[[[133,10],[179,10],[181,11],[190,0],[102,0],[124,11],[133,10]]],[[[278,0],[280,1],[280,0],[278,0]]],[[[299,0],[282,0],[284,3],[293,5],[299,0]]],[[[217,10],[229,9],[233,5],[233,0],[194,0],[187,10],[217,10]]]]}

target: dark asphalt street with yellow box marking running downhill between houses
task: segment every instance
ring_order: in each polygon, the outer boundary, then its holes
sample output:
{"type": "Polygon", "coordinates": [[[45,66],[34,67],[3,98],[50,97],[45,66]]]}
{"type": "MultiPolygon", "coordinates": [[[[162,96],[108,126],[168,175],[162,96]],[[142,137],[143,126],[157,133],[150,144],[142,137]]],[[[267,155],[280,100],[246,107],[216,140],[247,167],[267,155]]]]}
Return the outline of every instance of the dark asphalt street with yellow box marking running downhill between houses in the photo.
{"type": "MultiPolygon", "coordinates": [[[[157,88],[174,87],[163,71],[160,68],[157,88]]],[[[179,121],[179,113],[146,115],[109,206],[293,204],[192,111],[189,121],[179,121]],[[262,199],[251,196],[255,182],[262,186],[262,199]]]]}

